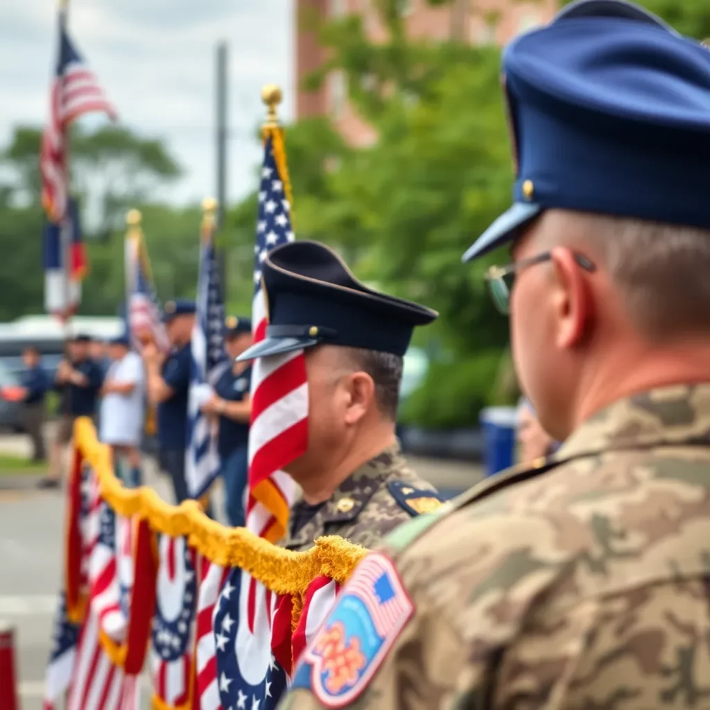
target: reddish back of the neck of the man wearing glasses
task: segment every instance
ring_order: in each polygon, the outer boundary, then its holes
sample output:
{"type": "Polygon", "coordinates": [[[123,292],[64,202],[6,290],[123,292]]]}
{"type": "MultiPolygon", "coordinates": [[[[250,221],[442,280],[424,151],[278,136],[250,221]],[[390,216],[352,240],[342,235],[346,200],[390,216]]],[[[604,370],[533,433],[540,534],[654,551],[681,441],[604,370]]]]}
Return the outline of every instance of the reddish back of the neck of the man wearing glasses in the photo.
{"type": "Polygon", "coordinates": [[[681,344],[639,353],[634,359],[607,358],[586,383],[574,416],[574,428],[618,400],[660,387],[710,383],[710,344],[681,344]],[[630,362],[620,368],[619,362],[630,362]]]}

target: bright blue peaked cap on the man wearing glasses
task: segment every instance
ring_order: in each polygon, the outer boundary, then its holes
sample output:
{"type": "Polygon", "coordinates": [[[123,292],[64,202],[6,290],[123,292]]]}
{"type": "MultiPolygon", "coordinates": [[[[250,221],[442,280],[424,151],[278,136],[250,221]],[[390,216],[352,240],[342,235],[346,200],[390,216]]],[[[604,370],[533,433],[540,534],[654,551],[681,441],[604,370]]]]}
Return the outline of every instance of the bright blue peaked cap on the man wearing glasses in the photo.
{"type": "Polygon", "coordinates": [[[514,204],[464,254],[545,209],[710,229],[710,52],[619,0],[581,0],[503,55],[514,204]]]}

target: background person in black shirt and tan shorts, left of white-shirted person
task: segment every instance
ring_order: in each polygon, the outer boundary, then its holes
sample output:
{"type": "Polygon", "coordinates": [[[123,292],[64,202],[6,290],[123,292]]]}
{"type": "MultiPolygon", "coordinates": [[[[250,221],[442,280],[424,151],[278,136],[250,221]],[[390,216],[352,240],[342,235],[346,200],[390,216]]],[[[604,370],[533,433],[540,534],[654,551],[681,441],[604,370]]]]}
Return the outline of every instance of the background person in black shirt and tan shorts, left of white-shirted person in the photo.
{"type": "Polygon", "coordinates": [[[64,447],[72,440],[77,417],[95,420],[99,391],[104,383],[102,368],[89,356],[92,339],[77,335],[67,342],[69,360],[62,360],[57,368],[55,388],[60,393],[60,421],[57,437],[52,444],[50,473],[40,481],[40,488],[56,488],[62,475],[64,447]]]}

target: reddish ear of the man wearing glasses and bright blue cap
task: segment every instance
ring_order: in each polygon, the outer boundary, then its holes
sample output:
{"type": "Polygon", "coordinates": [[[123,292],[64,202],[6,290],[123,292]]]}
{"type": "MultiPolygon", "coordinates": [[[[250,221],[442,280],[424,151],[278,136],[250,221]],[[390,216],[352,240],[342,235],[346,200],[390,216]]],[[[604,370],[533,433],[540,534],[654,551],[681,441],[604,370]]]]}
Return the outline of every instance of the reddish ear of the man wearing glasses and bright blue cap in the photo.
{"type": "Polygon", "coordinates": [[[552,249],[552,266],[555,270],[553,305],[557,311],[556,344],[559,348],[572,348],[584,338],[586,325],[594,312],[591,289],[586,272],[566,247],[552,249]]]}

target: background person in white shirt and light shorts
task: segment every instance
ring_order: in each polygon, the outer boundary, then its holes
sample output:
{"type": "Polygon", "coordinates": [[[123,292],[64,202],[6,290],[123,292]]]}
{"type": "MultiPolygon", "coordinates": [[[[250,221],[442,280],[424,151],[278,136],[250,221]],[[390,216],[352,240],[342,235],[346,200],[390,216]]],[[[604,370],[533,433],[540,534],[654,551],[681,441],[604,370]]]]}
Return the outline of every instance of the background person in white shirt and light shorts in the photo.
{"type": "MultiPolygon", "coordinates": [[[[146,409],[146,378],[141,357],[128,337],[109,342],[111,364],[102,388],[99,439],[109,444],[118,468],[129,469],[130,486],[141,485],[141,437],[146,409]]],[[[125,479],[124,479],[125,480],[125,479]]]]}

